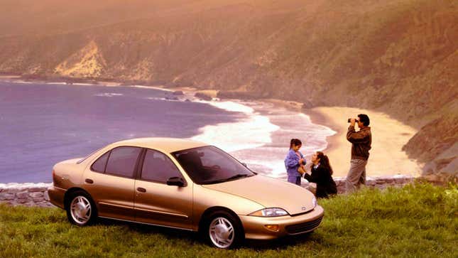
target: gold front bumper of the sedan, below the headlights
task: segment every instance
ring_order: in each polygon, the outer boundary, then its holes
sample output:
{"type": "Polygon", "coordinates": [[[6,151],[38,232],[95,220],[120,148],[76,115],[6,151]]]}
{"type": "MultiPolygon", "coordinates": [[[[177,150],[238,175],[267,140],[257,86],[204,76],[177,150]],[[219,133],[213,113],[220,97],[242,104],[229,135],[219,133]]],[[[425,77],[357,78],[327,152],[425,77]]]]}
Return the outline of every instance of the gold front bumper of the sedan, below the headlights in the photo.
{"type": "Polygon", "coordinates": [[[325,210],[320,205],[308,213],[280,217],[255,217],[239,215],[245,230],[245,237],[254,240],[272,240],[286,235],[299,235],[315,230],[325,210]],[[268,230],[265,225],[278,225],[278,232],[268,230]]]}

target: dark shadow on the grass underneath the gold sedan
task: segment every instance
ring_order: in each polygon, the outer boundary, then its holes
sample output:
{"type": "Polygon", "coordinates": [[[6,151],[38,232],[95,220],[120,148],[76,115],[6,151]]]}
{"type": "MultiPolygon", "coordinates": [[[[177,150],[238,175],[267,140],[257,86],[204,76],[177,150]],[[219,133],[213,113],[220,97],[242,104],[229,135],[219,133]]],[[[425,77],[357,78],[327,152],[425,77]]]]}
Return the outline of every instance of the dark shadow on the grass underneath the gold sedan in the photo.
{"type": "MultiPolygon", "coordinates": [[[[189,242],[190,244],[204,244],[209,245],[198,232],[187,230],[178,230],[170,227],[160,227],[154,225],[139,224],[136,222],[126,222],[120,220],[111,220],[106,218],[99,218],[97,220],[99,225],[124,225],[129,227],[140,234],[160,234],[168,239],[175,239],[189,242]]],[[[310,240],[312,232],[302,235],[281,237],[276,240],[245,240],[240,248],[248,248],[253,250],[268,250],[268,249],[286,249],[291,246],[307,244],[310,240]]],[[[316,240],[316,239],[315,239],[316,240]]]]}

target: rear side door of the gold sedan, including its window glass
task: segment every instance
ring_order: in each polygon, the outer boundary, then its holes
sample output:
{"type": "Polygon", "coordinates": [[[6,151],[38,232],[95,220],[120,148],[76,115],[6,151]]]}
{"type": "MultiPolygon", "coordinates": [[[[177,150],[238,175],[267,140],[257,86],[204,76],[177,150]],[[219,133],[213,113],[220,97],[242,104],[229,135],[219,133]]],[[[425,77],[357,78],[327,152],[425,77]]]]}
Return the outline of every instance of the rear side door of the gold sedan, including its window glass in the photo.
{"type": "Polygon", "coordinates": [[[134,220],[135,171],[141,148],[119,146],[97,158],[84,173],[84,189],[97,204],[100,217],[134,220]]]}

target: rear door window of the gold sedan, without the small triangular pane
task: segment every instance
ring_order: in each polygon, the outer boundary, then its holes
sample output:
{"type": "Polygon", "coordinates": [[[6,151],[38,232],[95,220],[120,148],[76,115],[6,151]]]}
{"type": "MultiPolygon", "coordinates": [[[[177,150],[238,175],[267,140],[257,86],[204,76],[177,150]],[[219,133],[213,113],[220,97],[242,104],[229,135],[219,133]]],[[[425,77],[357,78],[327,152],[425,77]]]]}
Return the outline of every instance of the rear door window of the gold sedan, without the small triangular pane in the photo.
{"type": "Polygon", "coordinates": [[[140,151],[141,148],[127,146],[112,149],[105,173],[132,178],[140,151]]]}

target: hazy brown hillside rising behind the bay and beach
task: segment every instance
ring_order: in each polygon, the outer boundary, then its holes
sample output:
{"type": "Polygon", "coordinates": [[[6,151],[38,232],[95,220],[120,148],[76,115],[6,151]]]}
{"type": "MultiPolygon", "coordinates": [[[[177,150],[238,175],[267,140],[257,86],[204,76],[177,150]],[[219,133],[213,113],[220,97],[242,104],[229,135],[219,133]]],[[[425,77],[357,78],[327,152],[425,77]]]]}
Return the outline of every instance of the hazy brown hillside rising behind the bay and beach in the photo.
{"type": "Polygon", "coordinates": [[[458,2],[0,0],[0,72],[376,109],[458,172],[458,2]]]}

